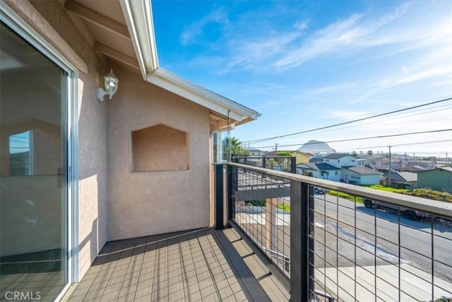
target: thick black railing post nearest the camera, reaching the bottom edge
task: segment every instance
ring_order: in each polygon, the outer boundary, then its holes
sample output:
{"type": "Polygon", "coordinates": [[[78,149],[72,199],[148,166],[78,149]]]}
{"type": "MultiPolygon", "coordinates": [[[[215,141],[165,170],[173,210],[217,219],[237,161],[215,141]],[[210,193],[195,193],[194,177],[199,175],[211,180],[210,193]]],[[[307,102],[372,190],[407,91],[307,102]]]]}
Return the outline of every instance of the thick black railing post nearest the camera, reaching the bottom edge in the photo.
{"type": "Polygon", "coordinates": [[[310,216],[313,195],[307,183],[290,180],[290,301],[308,302],[314,292],[310,216]],[[311,248],[310,248],[311,247],[311,248]]]}

